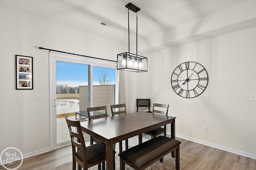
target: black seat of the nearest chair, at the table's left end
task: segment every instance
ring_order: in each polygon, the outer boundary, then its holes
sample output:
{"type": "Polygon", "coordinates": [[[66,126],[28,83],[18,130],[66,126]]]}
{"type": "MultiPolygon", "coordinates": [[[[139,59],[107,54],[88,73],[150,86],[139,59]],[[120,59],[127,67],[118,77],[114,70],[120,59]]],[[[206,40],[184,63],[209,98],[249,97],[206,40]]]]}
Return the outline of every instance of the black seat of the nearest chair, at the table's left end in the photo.
{"type": "MultiPolygon", "coordinates": [[[[94,145],[90,145],[89,147],[86,147],[86,152],[87,152],[88,164],[106,159],[106,145],[102,143],[96,143],[94,145]]],[[[83,161],[82,153],[83,153],[82,149],[76,152],[76,156],[81,161],[83,161]]]]}

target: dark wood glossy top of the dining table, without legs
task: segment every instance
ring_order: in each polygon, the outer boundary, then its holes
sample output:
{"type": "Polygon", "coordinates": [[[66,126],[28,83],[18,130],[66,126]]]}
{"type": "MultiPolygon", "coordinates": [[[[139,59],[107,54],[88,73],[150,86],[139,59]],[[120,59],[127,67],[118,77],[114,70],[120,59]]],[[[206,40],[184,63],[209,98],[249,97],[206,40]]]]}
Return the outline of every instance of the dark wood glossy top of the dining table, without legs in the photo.
{"type": "Polygon", "coordinates": [[[83,131],[96,134],[104,141],[114,140],[114,142],[118,142],[128,139],[128,137],[130,138],[172,123],[175,118],[176,117],[138,111],[81,122],[81,127],[83,131]],[[126,137],[122,138],[124,135],[126,137]]]}

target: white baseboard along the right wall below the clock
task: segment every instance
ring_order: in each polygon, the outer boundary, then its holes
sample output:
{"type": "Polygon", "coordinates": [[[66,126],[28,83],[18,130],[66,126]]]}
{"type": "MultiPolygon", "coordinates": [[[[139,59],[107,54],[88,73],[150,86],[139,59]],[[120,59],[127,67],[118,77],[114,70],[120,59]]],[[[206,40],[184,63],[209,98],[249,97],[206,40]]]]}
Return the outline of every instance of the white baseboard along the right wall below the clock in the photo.
{"type": "MultiPolygon", "coordinates": [[[[170,135],[170,133],[169,133],[169,135],[170,135]]],[[[186,137],[186,136],[183,136],[183,135],[176,134],[175,136],[178,137],[178,138],[181,138],[181,139],[186,139],[188,141],[192,141],[192,142],[195,142],[195,143],[206,145],[208,147],[213,147],[213,148],[216,148],[216,149],[225,150],[225,151],[230,152],[230,153],[234,153],[234,154],[238,154],[238,155],[245,156],[245,157],[248,157],[248,158],[256,159],[256,155],[255,154],[243,152],[243,151],[232,149],[232,148],[228,148],[228,147],[223,147],[221,145],[216,145],[214,143],[209,143],[209,142],[206,142],[206,141],[201,141],[201,140],[194,139],[194,138],[191,138],[191,137],[186,137]]]]}

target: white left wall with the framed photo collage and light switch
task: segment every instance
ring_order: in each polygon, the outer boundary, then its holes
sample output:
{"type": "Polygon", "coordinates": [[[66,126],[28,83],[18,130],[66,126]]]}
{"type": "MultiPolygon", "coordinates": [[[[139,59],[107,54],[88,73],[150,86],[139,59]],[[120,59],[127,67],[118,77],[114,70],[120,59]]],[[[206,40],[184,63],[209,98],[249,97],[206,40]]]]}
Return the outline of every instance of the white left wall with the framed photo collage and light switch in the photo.
{"type": "Polygon", "coordinates": [[[127,48],[111,39],[1,5],[0,152],[16,147],[29,156],[50,147],[48,51],[35,46],[114,61],[127,48]],[[15,90],[15,55],[33,57],[34,90],[15,90]],[[37,93],[44,94],[44,100],[36,100],[37,93]]]}

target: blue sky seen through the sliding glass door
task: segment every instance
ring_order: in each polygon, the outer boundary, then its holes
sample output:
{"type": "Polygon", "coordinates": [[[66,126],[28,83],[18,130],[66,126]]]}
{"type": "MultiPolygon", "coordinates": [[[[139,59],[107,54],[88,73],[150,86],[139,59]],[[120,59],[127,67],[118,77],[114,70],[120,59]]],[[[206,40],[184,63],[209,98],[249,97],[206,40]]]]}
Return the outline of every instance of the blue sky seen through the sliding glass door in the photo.
{"type": "MultiPolygon", "coordinates": [[[[108,70],[110,84],[116,82],[116,69],[93,66],[93,84],[98,85],[98,72],[108,70]]],[[[88,85],[88,65],[56,61],[56,84],[68,84],[71,87],[88,85]]]]}

